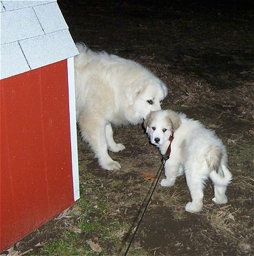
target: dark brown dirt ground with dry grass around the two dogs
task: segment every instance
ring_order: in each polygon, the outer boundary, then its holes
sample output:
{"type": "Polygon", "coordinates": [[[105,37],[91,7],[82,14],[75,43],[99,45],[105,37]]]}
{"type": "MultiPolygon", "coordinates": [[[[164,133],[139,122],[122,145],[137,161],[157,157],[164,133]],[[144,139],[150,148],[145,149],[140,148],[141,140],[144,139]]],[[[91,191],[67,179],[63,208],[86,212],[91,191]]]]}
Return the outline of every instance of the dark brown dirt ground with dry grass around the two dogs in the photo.
{"type": "MultiPolygon", "coordinates": [[[[169,90],[163,109],[185,112],[215,130],[227,147],[233,175],[229,203],[213,205],[213,187],[207,182],[199,214],[184,211],[190,199],[184,177],[174,187],[158,184],[130,255],[140,248],[144,255],[253,255],[251,1],[90,2],[59,1],[74,41],[136,60],[160,77],[169,90]]],[[[101,170],[86,143],[80,137],[78,142],[81,197],[94,196],[91,185],[96,187],[110,205],[105,222],[128,224],[117,248],[97,239],[107,248],[105,255],[123,255],[161,166],[159,151],[148,143],[142,126],[114,131],[116,141],[126,146],[110,153],[121,163],[119,172],[101,170]]],[[[30,234],[17,250],[32,248],[29,253],[40,254],[34,246],[58,235],[56,223],[30,234]]],[[[95,231],[89,238],[99,237],[95,231]]]]}

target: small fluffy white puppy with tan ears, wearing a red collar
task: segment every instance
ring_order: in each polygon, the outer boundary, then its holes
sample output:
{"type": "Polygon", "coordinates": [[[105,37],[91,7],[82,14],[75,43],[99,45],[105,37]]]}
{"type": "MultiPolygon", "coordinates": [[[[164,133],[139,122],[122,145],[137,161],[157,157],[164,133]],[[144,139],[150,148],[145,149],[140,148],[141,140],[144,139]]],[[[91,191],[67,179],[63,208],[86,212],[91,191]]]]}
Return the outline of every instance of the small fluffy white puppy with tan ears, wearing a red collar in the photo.
{"type": "Polygon", "coordinates": [[[150,142],[159,148],[161,154],[165,155],[171,144],[170,158],[164,166],[166,179],[161,180],[161,186],[173,186],[177,176],[185,172],[192,198],[185,206],[187,212],[202,210],[203,187],[208,177],[214,184],[213,203],[227,203],[225,191],[232,175],[227,168],[226,149],[214,131],[185,114],[170,110],[150,112],[144,126],[150,142]]]}

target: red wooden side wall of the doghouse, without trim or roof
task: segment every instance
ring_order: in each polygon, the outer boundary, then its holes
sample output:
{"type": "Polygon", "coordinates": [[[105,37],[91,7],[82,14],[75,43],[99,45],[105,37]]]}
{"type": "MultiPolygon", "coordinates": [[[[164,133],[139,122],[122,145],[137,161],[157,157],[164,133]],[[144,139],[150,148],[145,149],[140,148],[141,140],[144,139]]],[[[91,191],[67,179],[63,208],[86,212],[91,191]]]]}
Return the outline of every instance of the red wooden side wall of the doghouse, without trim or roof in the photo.
{"type": "Polygon", "coordinates": [[[1,80],[0,252],[74,203],[67,60],[1,80]]]}

